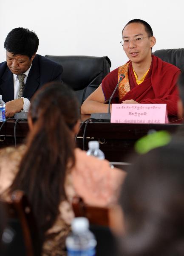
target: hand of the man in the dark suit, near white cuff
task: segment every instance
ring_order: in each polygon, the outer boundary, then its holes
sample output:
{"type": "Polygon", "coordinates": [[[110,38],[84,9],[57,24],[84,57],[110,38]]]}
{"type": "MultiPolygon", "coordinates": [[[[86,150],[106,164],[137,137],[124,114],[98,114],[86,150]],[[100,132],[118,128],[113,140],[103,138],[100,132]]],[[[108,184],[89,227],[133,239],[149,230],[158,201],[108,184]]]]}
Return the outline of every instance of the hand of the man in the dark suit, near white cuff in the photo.
{"type": "Polygon", "coordinates": [[[5,116],[12,117],[15,113],[20,112],[23,110],[24,100],[21,99],[14,99],[9,102],[6,102],[5,108],[5,116]]]}

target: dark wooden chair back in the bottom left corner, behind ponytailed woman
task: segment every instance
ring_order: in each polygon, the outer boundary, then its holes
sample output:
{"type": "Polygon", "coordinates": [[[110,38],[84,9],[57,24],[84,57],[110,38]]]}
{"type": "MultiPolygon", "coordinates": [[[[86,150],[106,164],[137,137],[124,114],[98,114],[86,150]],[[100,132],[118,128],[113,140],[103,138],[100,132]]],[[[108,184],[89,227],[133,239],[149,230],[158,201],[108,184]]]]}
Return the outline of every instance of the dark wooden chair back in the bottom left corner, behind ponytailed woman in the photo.
{"type": "Polygon", "coordinates": [[[14,191],[11,202],[1,199],[0,207],[6,215],[0,255],[40,256],[41,244],[37,224],[24,193],[20,190],[14,191]]]}

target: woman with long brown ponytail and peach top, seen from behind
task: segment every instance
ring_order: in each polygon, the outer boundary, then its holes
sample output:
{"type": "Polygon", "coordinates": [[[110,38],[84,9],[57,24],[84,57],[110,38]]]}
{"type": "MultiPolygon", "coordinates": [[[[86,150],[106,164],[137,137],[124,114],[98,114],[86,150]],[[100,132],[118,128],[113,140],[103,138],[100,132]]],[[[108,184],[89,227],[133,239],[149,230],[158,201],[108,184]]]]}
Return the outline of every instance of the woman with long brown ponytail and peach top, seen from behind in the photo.
{"type": "Polygon", "coordinates": [[[65,237],[74,217],[72,198],[113,204],[125,173],[74,148],[79,108],[65,84],[42,87],[31,101],[28,121],[27,145],[0,151],[0,194],[9,200],[10,192],[23,190],[44,242],[42,255],[65,255],[65,237]]]}

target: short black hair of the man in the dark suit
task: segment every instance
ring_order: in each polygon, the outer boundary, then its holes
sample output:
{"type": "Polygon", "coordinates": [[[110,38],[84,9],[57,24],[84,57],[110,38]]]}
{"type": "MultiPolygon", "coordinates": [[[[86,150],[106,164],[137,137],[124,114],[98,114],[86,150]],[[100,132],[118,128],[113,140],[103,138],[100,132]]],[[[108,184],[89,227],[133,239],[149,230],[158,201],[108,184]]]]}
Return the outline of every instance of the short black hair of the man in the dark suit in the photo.
{"type": "Polygon", "coordinates": [[[26,55],[30,59],[37,52],[39,39],[34,31],[24,28],[12,29],[4,43],[4,48],[14,55],[26,55]]]}

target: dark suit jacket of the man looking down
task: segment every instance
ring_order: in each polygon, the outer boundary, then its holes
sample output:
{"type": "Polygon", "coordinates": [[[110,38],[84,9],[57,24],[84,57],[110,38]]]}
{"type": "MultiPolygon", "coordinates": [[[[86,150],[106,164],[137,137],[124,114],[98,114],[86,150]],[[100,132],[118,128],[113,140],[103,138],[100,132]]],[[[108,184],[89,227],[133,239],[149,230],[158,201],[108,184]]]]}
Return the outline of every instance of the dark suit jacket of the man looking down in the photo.
{"type": "MultiPolygon", "coordinates": [[[[36,55],[29,71],[23,97],[31,99],[36,90],[50,81],[61,81],[62,66],[41,55],[36,55]]],[[[14,99],[13,73],[6,61],[0,63],[0,94],[4,102],[14,99]]]]}

